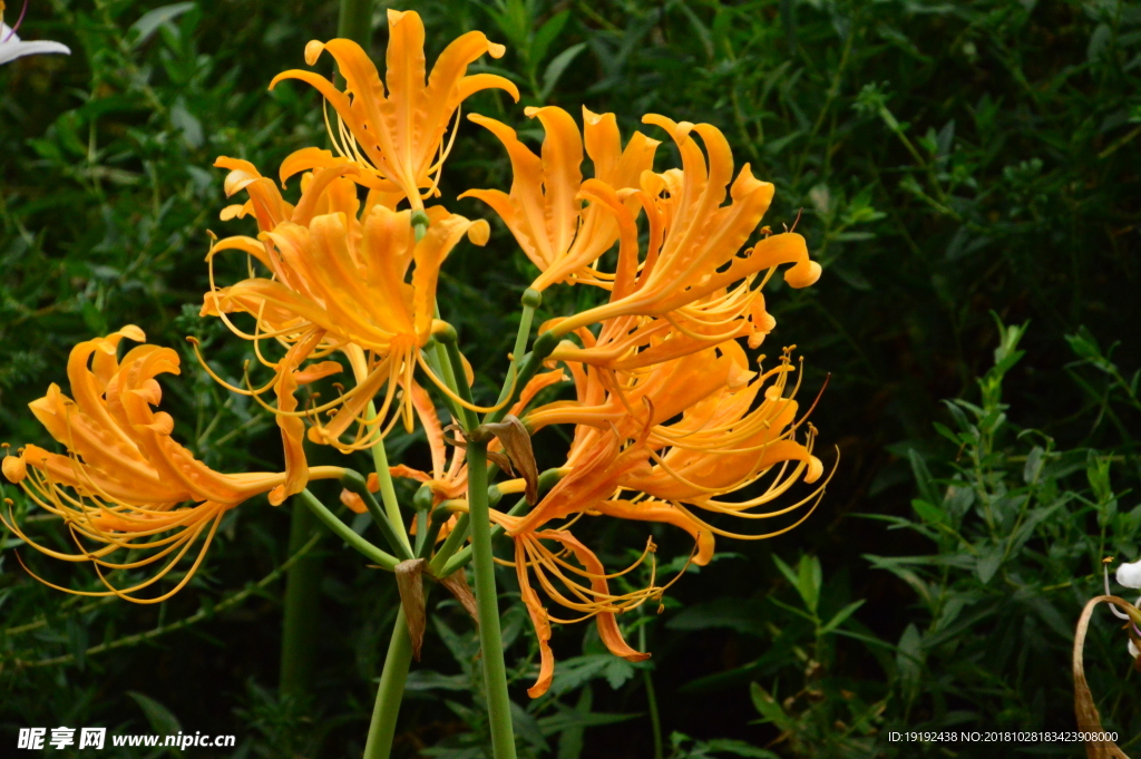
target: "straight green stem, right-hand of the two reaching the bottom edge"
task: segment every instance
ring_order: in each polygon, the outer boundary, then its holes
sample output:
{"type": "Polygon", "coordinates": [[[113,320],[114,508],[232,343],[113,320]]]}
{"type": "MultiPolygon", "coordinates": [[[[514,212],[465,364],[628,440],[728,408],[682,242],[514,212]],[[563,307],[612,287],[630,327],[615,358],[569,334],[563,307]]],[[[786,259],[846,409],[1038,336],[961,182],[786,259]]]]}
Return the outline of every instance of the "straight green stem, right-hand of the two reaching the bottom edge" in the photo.
{"type": "Polygon", "coordinates": [[[486,443],[472,442],[468,445],[468,508],[471,515],[479,647],[484,662],[492,753],[495,759],[516,759],[511,701],[507,693],[507,665],[503,663],[503,636],[500,631],[499,596],[495,591],[495,563],[492,560],[492,534],[487,515],[486,443]]]}

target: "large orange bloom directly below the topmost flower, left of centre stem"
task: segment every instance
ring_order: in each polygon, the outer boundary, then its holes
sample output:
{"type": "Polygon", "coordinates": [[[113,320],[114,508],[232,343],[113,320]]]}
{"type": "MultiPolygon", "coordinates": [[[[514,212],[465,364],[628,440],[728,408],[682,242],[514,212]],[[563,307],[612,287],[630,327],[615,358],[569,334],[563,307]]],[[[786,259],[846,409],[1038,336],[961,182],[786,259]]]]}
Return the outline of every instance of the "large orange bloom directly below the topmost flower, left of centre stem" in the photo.
{"type": "MultiPolygon", "coordinates": [[[[440,266],[464,235],[484,244],[487,223],[435,207],[428,209],[430,229],[418,242],[411,211],[394,211],[383,193],[371,192],[362,208],[350,179],[359,175],[355,165],[341,162],[307,175],[296,208],[249,162],[222,158],[217,165],[232,169],[226,180],[229,194],[240,189],[250,194],[260,234],[257,240],[234,236],[218,241],[208,257],[211,283],[213,257],[227,250],[248,253],[265,265],[270,276],[250,276],[213,289],[204,299],[202,314],[220,316],[235,334],[256,346],[269,338],[288,348],[278,362],[266,360],[258,348],[259,358],[275,372],[273,382],[261,390],[230,389],[254,397],[276,390],[277,409],[270,410],[282,427],[286,463],[296,462],[297,468],[305,461],[305,418],[314,423],[309,438],[316,443],[342,451],[375,444],[383,435],[378,428],[387,419],[397,388],[412,386],[420,348],[431,337],[440,266]],[[232,313],[253,316],[254,331],[235,326],[227,316],[232,313]],[[297,411],[293,391],[299,382],[311,379],[309,374],[316,378],[339,370],[334,362],[324,362],[306,374],[299,372],[300,365],[335,350],[349,358],[356,387],[331,403],[297,411]],[[365,419],[369,402],[386,383],[382,409],[365,419]],[[323,423],[318,414],[337,406],[335,415],[323,423]],[[355,439],[341,441],[355,422],[355,439]]],[[[235,215],[243,212],[245,207],[235,215]]],[[[403,415],[411,429],[411,393],[405,393],[403,415]]]]}

